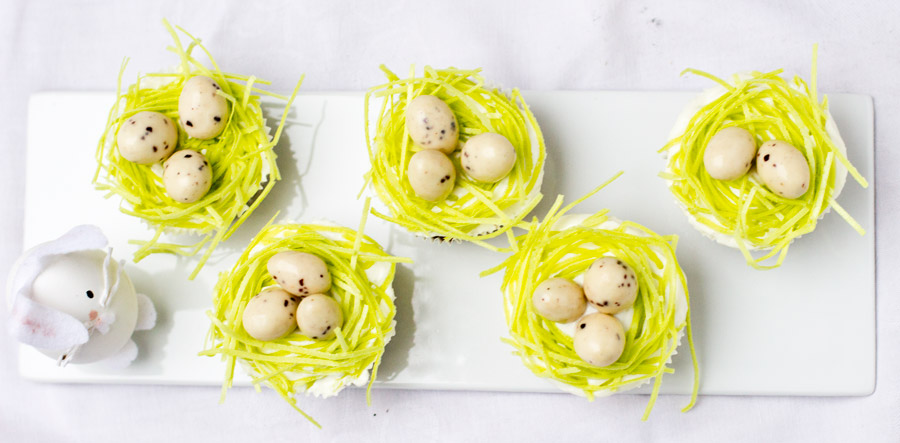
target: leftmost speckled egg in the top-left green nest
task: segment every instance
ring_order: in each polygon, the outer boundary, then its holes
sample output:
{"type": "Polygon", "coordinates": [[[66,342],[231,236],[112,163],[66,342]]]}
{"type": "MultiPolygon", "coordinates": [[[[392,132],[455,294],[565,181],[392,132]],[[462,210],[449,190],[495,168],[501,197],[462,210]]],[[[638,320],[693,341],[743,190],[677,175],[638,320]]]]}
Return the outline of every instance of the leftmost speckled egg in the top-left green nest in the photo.
{"type": "Polygon", "coordinates": [[[177,143],[175,123],[159,112],[138,112],[123,121],[116,133],[119,154],[141,165],[164,160],[175,152],[177,143]]]}

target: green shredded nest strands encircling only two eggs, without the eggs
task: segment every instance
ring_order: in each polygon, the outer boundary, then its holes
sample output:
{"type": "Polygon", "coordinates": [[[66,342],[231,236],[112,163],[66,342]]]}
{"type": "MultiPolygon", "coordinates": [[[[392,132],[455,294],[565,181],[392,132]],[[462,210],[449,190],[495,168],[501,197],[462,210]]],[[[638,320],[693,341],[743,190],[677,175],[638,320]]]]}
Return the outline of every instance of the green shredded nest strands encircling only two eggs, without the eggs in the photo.
{"type": "Polygon", "coordinates": [[[868,187],[868,182],[826,132],[828,99],[818,100],[815,49],[812,87],[799,76],[791,82],[784,80],[781,70],[735,75],[731,82],[694,69],[685,72],[709,78],[724,88],[721,96],[691,118],[683,134],[660,150],[669,151],[668,169],[660,176],[690,216],[734,238],[747,263],[757,269],[781,266],[791,242],[812,232],[829,207],[860,234],[865,233],[835,201],[838,164],[862,187],[868,187]],[[716,132],[731,126],[750,131],[758,144],[783,140],[800,149],[810,167],[809,191],[800,198],[786,199],[769,191],[753,172],[727,182],[710,177],[703,167],[705,147],[716,132]],[[768,252],[754,257],[752,249],[768,252]],[[774,264],[762,264],[775,256],[774,264]]]}

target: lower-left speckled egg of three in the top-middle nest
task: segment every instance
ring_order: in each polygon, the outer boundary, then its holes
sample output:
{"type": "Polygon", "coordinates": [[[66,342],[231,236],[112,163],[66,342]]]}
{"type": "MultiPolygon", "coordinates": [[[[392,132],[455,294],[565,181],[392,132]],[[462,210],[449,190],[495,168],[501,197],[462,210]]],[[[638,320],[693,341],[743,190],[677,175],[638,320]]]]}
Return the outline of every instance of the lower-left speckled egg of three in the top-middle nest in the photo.
{"type": "Polygon", "coordinates": [[[424,149],[409,159],[406,177],[420,198],[436,202],[447,198],[456,183],[456,168],[444,153],[424,149]]]}

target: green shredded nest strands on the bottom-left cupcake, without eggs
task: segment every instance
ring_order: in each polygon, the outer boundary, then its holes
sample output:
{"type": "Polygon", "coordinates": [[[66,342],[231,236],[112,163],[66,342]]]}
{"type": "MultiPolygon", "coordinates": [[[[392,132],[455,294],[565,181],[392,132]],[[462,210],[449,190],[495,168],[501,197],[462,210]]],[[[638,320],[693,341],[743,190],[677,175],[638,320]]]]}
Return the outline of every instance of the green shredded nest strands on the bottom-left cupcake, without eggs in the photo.
{"type": "Polygon", "coordinates": [[[393,334],[393,290],[396,263],[408,259],[384,252],[362,231],[333,225],[267,225],[250,242],[230,272],[219,276],[208,312],[212,325],[200,355],[221,355],[225,361],[222,400],[232,386],[235,363],[242,362],[259,389],[266,384],[316,426],[297,406],[294,394],[316,383],[334,386],[336,393],[347,383],[369,375],[366,398],[375,380],[384,347],[393,334]],[[244,331],[241,324],[247,302],[263,288],[275,286],[266,264],[281,251],[303,251],[322,258],[332,276],[330,293],[341,306],[344,324],[330,340],[312,340],[299,331],[263,342],[244,331]],[[388,266],[375,278],[373,266],[388,266]],[[371,275],[369,274],[371,273],[371,275]],[[378,281],[383,277],[383,281],[378,281]]]}

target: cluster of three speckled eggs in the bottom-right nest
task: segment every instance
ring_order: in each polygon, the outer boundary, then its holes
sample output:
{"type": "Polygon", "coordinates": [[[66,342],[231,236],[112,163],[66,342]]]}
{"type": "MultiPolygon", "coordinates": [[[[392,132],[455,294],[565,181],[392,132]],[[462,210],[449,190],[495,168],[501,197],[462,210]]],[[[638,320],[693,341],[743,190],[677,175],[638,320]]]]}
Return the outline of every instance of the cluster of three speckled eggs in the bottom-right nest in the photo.
{"type": "Polygon", "coordinates": [[[615,363],[625,350],[625,328],[611,314],[634,305],[638,281],[634,270],[615,257],[602,257],[584,273],[584,286],[566,278],[551,278],[538,285],[532,297],[535,311],[547,320],[578,320],[573,336],[575,353],[598,367],[615,363]],[[585,315],[587,303],[597,312],[585,315]]]}

